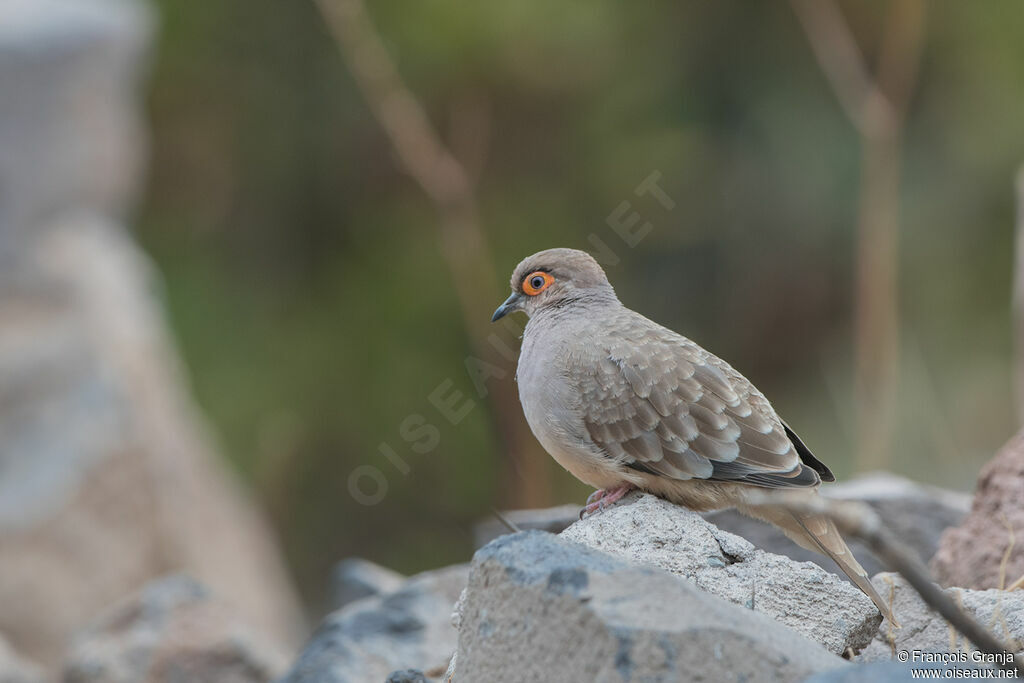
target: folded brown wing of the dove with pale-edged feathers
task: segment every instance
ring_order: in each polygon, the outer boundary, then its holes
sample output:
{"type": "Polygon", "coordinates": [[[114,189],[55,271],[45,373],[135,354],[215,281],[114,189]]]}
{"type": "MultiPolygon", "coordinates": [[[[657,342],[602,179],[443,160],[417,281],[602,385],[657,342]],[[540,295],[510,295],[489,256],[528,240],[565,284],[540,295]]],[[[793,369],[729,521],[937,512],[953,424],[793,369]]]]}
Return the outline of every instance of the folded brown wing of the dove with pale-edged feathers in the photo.
{"type": "Polygon", "coordinates": [[[580,382],[587,432],[605,455],[673,479],[776,487],[831,476],[724,360],[639,315],[617,327],[580,382]]]}

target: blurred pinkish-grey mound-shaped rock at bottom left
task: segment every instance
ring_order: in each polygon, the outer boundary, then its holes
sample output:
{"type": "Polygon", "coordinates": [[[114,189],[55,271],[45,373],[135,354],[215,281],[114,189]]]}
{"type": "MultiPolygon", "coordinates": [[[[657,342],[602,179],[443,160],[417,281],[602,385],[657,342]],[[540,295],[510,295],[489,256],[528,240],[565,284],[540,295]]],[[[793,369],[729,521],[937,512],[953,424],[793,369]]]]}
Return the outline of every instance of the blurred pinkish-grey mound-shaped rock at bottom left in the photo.
{"type": "Polygon", "coordinates": [[[266,683],[287,660],[185,577],[108,610],[75,638],[65,683],[266,683]]]}

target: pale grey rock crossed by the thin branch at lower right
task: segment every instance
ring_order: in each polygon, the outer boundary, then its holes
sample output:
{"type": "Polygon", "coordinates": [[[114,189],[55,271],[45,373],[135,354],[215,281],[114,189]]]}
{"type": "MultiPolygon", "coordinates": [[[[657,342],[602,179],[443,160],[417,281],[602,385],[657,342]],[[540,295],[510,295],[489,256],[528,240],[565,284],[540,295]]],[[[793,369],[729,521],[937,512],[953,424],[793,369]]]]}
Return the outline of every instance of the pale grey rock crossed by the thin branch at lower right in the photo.
{"type": "MultiPolygon", "coordinates": [[[[891,659],[899,650],[955,652],[974,649],[944,618],[925,605],[918,592],[899,574],[880,573],[871,583],[882,597],[892,596],[893,615],[901,628],[894,629],[888,621],[883,622],[874,640],[858,655],[858,660],[891,659]]],[[[949,588],[946,593],[1008,647],[1016,652],[1024,648],[1024,591],[949,588]]]]}

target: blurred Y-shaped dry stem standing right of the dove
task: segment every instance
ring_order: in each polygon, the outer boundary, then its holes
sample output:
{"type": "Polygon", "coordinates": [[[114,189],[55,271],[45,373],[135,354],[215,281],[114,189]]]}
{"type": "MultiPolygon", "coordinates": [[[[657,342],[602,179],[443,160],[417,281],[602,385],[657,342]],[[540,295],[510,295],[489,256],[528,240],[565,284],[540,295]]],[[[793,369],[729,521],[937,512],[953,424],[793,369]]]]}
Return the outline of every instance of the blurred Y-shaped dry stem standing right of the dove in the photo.
{"type": "Polygon", "coordinates": [[[899,371],[897,270],[900,137],[924,35],[925,4],[900,0],[892,10],[877,74],[835,0],[791,0],[814,56],[861,138],[855,384],[861,469],[882,464],[892,432],[899,371]]]}

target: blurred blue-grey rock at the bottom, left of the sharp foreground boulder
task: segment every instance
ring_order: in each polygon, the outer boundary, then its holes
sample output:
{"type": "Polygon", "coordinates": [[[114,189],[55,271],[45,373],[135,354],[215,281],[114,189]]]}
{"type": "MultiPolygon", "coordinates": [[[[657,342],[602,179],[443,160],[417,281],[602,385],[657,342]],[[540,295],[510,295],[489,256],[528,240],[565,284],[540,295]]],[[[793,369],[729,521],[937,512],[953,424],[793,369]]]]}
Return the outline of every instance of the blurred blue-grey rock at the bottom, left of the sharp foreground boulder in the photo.
{"type": "Polygon", "coordinates": [[[283,683],[380,681],[397,669],[443,672],[458,634],[452,607],[466,565],[427,571],[328,615],[283,683]]]}

